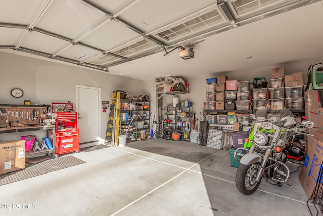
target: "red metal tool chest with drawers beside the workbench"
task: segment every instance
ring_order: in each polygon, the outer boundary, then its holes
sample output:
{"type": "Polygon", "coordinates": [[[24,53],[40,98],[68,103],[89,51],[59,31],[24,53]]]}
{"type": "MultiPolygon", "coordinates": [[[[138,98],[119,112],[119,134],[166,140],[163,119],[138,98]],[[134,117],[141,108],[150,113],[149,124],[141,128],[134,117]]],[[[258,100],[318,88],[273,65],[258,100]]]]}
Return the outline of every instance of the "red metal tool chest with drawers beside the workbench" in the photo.
{"type": "Polygon", "coordinates": [[[55,139],[55,155],[77,152],[80,150],[80,134],[77,128],[76,112],[56,112],[55,134],[50,139],[55,139]]]}

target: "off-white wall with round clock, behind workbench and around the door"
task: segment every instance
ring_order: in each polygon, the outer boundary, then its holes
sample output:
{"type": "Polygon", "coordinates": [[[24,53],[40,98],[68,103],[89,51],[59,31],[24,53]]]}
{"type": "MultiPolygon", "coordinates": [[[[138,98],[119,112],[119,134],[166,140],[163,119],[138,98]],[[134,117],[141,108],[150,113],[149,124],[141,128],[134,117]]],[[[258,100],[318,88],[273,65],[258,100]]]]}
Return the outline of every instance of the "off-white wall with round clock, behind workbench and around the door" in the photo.
{"type": "MultiPolygon", "coordinates": [[[[110,102],[113,90],[123,90],[130,95],[155,94],[145,92],[141,80],[4,52],[0,52],[0,74],[0,104],[24,104],[24,100],[31,100],[32,104],[51,105],[52,102],[71,101],[77,110],[76,85],[99,87],[101,100],[110,102]],[[14,87],[24,91],[23,97],[10,95],[14,87]]],[[[107,114],[101,113],[102,139],[105,139],[106,125],[107,114]]],[[[20,136],[0,134],[0,141],[19,139],[20,136]]]]}

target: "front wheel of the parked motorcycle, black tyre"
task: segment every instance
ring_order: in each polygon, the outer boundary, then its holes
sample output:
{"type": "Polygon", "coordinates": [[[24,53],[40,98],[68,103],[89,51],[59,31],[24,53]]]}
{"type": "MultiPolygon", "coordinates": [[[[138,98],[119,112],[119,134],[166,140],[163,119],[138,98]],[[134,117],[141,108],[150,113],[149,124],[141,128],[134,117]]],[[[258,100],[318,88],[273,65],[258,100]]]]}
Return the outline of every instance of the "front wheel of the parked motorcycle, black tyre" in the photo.
{"type": "Polygon", "coordinates": [[[261,182],[261,179],[256,181],[260,166],[260,163],[253,163],[251,165],[240,163],[236,173],[236,186],[240,193],[250,195],[257,190],[261,182]]]}

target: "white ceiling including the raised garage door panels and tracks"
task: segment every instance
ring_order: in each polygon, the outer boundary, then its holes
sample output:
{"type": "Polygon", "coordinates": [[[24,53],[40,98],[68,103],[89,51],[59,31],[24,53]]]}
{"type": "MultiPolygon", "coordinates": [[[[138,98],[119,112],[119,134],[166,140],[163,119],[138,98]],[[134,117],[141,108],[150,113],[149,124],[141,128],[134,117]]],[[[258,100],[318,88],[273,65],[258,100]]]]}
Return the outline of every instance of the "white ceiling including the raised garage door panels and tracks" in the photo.
{"type": "Polygon", "coordinates": [[[0,51],[141,80],[323,57],[323,1],[317,0],[0,0],[0,5],[0,51]],[[190,45],[194,58],[179,58],[176,47],[190,45]]]}

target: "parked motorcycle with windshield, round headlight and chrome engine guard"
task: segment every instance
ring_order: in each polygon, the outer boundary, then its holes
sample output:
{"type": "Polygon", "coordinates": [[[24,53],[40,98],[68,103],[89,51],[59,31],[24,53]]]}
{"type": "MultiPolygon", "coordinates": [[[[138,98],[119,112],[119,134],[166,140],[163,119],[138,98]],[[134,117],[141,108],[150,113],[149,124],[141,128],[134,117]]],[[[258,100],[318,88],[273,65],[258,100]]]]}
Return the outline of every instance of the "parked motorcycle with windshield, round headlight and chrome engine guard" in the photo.
{"type": "Polygon", "coordinates": [[[240,162],[236,173],[236,187],[240,193],[253,194],[261,179],[271,179],[278,186],[286,183],[290,170],[285,164],[291,149],[290,139],[295,135],[309,135],[305,128],[313,122],[302,121],[296,125],[293,113],[283,110],[257,110],[253,127],[244,147],[237,148],[234,157],[240,162]]]}

